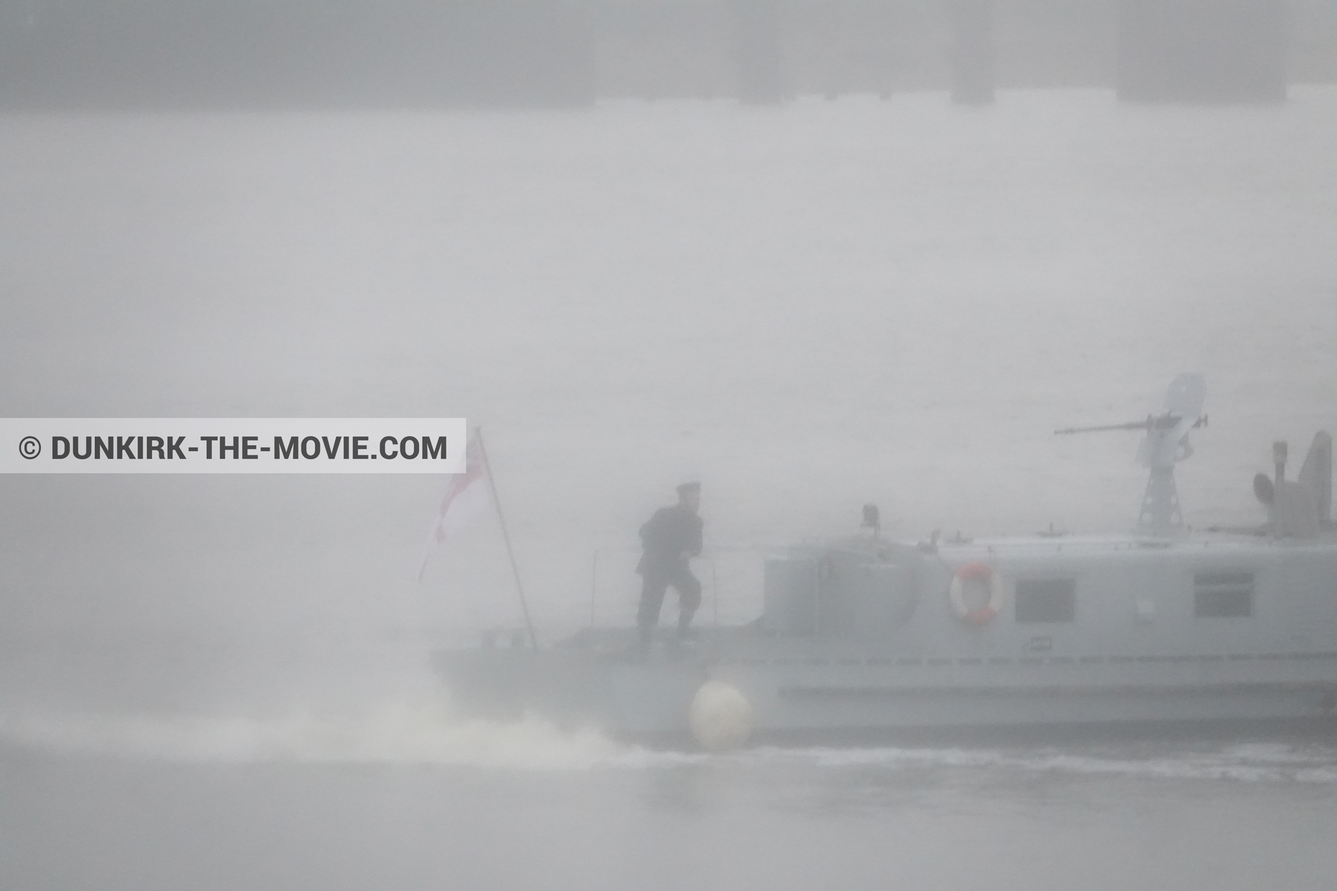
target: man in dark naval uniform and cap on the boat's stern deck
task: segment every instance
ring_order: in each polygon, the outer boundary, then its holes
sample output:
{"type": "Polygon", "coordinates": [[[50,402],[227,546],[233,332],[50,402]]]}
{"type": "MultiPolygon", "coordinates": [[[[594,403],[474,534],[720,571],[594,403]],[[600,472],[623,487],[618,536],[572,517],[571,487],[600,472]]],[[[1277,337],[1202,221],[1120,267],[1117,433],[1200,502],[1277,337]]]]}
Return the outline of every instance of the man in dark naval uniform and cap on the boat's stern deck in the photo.
{"type": "Polygon", "coordinates": [[[636,627],[642,647],[648,647],[654,637],[668,585],[678,592],[678,637],[690,633],[691,617],[701,605],[701,582],[689,565],[693,557],[701,554],[703,524],[697,516],[699,506],[701,484],[685,482],[678,486],[678,504],[660,508],[640,526],[640,544],[646,550],[636,565],[643,580],[636,627]]]}

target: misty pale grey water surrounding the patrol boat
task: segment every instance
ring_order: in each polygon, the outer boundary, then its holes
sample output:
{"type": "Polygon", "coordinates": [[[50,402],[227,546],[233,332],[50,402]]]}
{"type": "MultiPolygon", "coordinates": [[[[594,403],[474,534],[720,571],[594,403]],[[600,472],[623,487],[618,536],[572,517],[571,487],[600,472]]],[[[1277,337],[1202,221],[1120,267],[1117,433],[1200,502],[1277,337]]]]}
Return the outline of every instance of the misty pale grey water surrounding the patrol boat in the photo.
{"type": "MultiPolygon", "coordinates": [[[[1123,529],[1179,371],[1189,521],[1337,429],[1337,90],[0,118],[8,417],[467,417],[539,632],[634,610],[703,482],[769,548],[1123,529]]],[[[421,477],[0,480],[0,888],[1329,888],[1337,740],[659,752],[456,715],[516,627],[421,477]]]]}

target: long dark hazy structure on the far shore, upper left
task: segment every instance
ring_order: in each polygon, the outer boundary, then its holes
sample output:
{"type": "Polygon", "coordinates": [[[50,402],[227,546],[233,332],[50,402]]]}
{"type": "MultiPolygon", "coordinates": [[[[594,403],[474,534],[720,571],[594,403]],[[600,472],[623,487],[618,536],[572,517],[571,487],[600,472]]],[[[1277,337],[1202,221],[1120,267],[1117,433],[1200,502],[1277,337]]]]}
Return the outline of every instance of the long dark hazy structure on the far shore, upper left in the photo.
{"type": "Polygon", "coordinates": [[[0,107],[580,106],[562,0],[0,0],[0,107]]]}

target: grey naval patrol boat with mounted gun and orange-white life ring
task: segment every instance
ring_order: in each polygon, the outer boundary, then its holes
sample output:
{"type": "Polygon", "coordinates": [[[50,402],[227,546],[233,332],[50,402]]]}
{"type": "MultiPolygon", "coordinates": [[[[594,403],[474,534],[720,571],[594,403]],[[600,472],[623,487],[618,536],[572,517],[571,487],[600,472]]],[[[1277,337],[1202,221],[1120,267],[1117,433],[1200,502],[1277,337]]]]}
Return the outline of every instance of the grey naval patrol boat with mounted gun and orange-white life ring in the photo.
{"type": "MultiPolygon", "coordinates": [[[[635,629],[436,655],[457,708],[624,737],[913,737],[965,731],[1317,724],[1337,712],[1332,438],[1296,480],[1274,443],[1258,528],[1191,532],[1174,466],[1206,423],[1185,374],[1140,429],[1127,534],[900,544],[865,530],[765,565],[763,612],[638,652],[635,629]]],[[[1083,430],[1059,430],[1080,433],[1083,430]]]]}

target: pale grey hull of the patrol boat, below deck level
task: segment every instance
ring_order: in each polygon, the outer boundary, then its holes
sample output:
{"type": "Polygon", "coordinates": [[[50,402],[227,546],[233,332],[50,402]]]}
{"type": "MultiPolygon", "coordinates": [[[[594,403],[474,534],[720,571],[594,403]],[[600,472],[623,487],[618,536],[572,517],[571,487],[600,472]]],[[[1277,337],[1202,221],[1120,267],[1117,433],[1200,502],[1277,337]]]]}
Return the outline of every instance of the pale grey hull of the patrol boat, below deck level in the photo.
{"type": "Polygon", "coordinates": [[[757,740],[1333,721],[1337,653],[1233,656],[906,660],[739,635],[686,652],[480,649],[436,663],[465,713],[630,739],[687,739],[706,680],[742,693],[757,740]]]}

